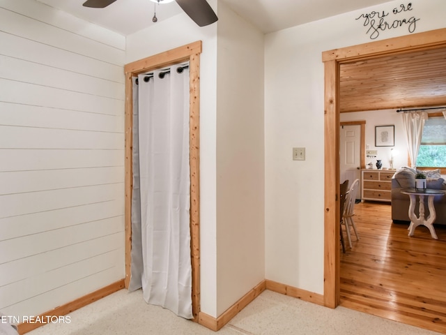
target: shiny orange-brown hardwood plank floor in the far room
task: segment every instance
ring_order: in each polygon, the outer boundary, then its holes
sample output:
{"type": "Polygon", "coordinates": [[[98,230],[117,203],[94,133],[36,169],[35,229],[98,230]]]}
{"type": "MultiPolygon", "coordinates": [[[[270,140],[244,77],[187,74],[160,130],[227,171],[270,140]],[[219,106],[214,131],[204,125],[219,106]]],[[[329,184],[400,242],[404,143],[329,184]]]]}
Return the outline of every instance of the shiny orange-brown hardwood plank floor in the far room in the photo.
{"type": "MultiPolygon", "coordinates": [[[[341,251],[341,306],[446,334],[446,226],[438,240],[392,223],[387,203],[355,205],[360,240],[341,251]]],[[[352,230],[353,232],[353,230],[352,230]]]]}

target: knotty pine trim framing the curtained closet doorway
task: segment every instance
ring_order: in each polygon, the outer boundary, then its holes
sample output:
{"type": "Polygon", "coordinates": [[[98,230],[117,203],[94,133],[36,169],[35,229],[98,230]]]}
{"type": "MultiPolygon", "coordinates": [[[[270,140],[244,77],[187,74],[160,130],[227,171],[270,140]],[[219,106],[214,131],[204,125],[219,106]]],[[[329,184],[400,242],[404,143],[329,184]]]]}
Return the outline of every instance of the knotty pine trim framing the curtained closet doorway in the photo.
{"type": "Polygon", "coordinates": [[[190,72],[190,251],[192,260],[192,313],[198,321],[200,306],[200,54],[201,40],[125,65],[125,288],[131,274],[132,252],[132,77],[146,71],[189,61],[190,72]]]}

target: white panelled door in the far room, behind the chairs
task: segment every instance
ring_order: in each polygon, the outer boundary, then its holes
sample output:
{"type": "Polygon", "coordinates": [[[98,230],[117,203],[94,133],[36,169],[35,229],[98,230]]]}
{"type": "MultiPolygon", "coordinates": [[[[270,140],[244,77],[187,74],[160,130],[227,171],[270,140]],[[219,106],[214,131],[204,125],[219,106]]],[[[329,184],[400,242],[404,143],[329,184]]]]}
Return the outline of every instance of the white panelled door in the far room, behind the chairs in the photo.
{"type": "MultiPolygon", "coordinates": [[[[339,170],[341,183],[348,179],[348,187],[361,178],[361,126],[341,126],[339,131],[339,170]]],[[[361,183],[360,183],[361,186],[361,183]]],[[[360,198],[361,190],[356,193],[360,198]]]]}

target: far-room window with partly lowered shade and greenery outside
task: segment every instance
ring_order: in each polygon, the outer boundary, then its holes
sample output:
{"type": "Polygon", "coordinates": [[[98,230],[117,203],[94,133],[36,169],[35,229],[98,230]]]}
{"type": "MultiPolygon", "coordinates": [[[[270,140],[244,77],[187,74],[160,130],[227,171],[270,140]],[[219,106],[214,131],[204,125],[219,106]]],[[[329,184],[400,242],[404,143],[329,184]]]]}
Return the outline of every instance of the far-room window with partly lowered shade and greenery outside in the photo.
{"type": "Polygon", "coordinates": [[[444,117],[429,117],[424,123],[417,166],[446,167],[446,119],[444,117]]]}

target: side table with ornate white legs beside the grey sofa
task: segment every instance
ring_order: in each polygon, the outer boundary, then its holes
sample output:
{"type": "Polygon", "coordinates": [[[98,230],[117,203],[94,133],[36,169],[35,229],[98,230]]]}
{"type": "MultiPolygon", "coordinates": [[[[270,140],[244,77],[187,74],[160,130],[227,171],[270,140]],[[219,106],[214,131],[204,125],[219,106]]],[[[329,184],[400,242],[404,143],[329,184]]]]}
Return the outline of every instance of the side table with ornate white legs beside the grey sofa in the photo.
{"type": "Polygon", "coordinates": [[[435,229],[433,228],[433,221],[436,219],[435,207],[433,206],[433,197],[435,195],[445,195],[445,191],[443,190],[431,190],[426,189],[426,191],[417,191],[415,188],[405,188],[401,190],[401,193],[407,194],[410,197],[410,205],[409,205],[409,234],[408,236],[413,236],[413,232],[415,232],[415,228],[419,225],[426,226],[431,232],[431,236],[433,239],[438,239],[435,229]],[[416,216],[415,214],[415,204],[417,202],[417,196],[419,198],[418,204],[418,212],[420,216],[416,216]],[[424,196],[427,196],[427,205],[429,208],[429,217],[424,218],[424,196]]]}

